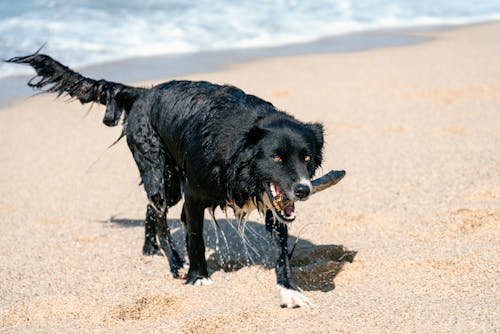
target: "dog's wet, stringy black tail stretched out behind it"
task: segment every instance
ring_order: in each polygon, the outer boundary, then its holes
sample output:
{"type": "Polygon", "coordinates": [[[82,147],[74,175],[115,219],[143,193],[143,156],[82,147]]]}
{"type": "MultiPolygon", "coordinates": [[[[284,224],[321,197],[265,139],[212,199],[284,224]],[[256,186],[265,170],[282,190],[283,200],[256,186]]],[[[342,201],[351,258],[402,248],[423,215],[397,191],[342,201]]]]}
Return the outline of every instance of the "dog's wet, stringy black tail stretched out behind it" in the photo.
{"type": "Polygon", "coordinates": [[[46,93],[68,94],[82,104],[97,102],[106,105],[103,123],[107,126],[118,124],[123,111],[129,111],[142,88],[126,86],[106,80],[86,78],[59,63],[51,57],[34,53],[14,57],[8,63],[28,64],[37,73],[28,86],[46,93]]]}

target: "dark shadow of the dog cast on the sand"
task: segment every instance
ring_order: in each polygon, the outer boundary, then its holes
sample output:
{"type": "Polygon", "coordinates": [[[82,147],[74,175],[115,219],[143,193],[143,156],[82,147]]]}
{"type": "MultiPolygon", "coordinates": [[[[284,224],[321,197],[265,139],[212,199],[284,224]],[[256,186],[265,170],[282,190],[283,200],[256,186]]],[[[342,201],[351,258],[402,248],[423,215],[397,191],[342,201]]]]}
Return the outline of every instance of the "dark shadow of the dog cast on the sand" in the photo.
{"type": "MultiPolygon", "coordinates": [[[[106,223],[117,227],[144,226],[143,220],[111,218],[106,223]]],[[[169,219],[172,238],[177,251],[186,257],[185,231],[179,219],[169,219]]],[[[207,264],[210,272],[236,271],[245,266],[274,267],[270,233],[263,224],[247,221],[238,225],[233,219],[218,219],[204,222],[205,245],[208,251],[207,264]]],[[[289,236],[289,249],[294,248],[290,263],[295,281],[306,291],[331,291],[334,278],[345,262],[352,262],[356,251],[342,245],[315,245],[289,236]],[[295,245],[295,246],[294,246],[295,245]]]]}

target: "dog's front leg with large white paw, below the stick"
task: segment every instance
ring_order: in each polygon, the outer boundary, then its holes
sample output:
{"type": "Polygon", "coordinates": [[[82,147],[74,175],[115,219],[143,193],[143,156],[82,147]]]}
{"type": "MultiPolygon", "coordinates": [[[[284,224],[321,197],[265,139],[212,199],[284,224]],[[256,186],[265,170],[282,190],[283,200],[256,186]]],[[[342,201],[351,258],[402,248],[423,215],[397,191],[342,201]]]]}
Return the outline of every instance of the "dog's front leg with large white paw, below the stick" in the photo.
{"type": "Polygon", "coordinates": [[[304,296],[292,277],[290,260],[288,258],[288,228],[285,224],[276,221],[270,210],[266,212],[266,229],[271,233],[271,247],[275,256],[276,280],[280,295],[280,306],[295,308],[312,306],[304,296]]]}

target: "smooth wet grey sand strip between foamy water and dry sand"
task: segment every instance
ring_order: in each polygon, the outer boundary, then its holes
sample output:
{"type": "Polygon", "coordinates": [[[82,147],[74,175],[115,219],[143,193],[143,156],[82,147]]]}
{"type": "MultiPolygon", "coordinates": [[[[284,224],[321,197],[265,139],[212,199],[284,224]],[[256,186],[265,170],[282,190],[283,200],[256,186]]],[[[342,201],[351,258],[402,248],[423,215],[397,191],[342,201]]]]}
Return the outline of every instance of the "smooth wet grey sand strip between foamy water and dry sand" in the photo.
{"type": "MultiPolygon", "coordinates": [[[[109,81],[124,83],[151,82],[164,78],[219,71],[256,59],[306,54],[360,52],[376,48],[401,47],[429,40],[430,37],[425,36],[428,33],[491,22],[495,21],[463,25],[429,25],[378,29],[329,36],[311,42],[276,47],[137,57],[76,67],[74,69],[84,76],[95,79],[105,78],[109,81]],[[127,70],[124,71],[124,68],[127,70]]],[[[57,60],[57,55],[51,56],[57,60]]],[[[73,68],[71,64],[64,65],[73,68]]],[[[12,66],[20,65],[12,64],[12,66]]],[[[27,86],[27,82],[31,77],[31,75],[14,75],[0,79],[0,109],[5,108],[18,99],[36,94],[35,91],[27,86]]]]}

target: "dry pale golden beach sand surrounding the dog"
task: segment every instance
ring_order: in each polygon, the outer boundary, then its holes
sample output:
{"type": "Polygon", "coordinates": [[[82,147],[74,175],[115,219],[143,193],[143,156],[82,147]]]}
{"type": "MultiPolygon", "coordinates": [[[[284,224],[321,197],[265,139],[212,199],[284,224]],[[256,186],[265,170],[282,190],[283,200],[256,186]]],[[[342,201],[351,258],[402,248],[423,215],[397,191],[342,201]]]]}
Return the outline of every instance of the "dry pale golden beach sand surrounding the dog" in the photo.
{"type": "Polygon", "coordinates": [[[211,255],[209,287],[142,256],[145,195],[125,142],[106,149],[120,129],[102,108],[44,95],[0,110],[0,332],[498,333],[500,23],[429,36],[188,77],[325,124],[324,171],[348,175],[291,230],[312,251],[296,263],[311,309],[278,307],[253,234],[261,258],[229,271],[211,255]],[[334,261],[341,244],[352,263],[334,261]]]}

